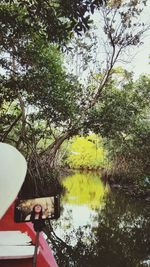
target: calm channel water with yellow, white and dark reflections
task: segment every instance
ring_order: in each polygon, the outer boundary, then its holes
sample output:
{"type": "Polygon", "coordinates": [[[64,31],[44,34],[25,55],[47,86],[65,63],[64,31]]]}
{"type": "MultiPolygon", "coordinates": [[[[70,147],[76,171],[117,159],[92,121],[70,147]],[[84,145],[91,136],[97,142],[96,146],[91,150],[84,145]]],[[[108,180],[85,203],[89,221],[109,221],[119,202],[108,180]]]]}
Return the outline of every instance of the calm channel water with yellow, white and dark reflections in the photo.
{"type": "Polygon", "coordinates": [[[51,239],[59,267],[150,266],[148,204],[111,192],[97,174],[76,173],[62,183],[51,239]]]}

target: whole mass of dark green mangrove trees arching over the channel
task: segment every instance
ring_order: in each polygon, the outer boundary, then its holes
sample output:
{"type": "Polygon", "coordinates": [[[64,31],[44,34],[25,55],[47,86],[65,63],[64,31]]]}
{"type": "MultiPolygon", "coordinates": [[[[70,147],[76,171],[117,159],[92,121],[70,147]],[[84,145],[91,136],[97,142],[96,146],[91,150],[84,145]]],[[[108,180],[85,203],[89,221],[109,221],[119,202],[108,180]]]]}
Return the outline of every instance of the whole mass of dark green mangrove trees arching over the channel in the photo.
{"type": "Polygon", "coordinates": [[[0,138],[28,161],[24,195],[45,194],[51,182],[56,193],[60,146],[91,131],[107,140],[119,174],[128,176],[133,169],[134,176],[149,175],[150,79],[133,81],[115,68],[147,29],[135,21],[141,11],[137,1],[1,1],[0,138]],[[63,52],[92,25],[95,10],[101,14],[106,56],[83,84],[64,67],[63,52]]]}

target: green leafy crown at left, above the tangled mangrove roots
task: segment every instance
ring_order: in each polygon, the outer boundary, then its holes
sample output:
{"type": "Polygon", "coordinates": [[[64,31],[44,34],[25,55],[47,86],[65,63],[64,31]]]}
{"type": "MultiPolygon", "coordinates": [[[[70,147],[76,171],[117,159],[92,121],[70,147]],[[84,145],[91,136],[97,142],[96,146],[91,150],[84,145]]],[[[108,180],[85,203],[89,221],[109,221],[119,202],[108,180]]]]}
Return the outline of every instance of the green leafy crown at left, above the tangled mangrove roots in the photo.
{"type": "MultiPolygon", "coordinates": [[[[39,47],[38,47],[39,48],[39,47]]],[[[39,48],[40,50],[40,48],[39,48]]],[[[10,74],[7,77],[1,76],[1,105],[9,107],[15,105],[15,109],[23,112],[26,120],[33,127],[34,121],[44,120],[47,126],[53,123],[56,127],[65,126],[72,120],[77,112],[76,97],[80,86],[75,90],[75,84],[67,77],[61,67],[61,60],[57,49],[48,47],[41,49],[36,58],[30,55],[30,68],[25,73],[16,73],[15,77],[10,74]],[[18,88],[19,87],[19,88],[18,88]],[[19,94],[23,106],[19,108],[19,94]],[[72,114],[72,116],[71,116],[72,114]],[[46,120],[45,120],[46,119],[46,120]],[[65,124],[64,124],[65,123],[65,124]]],[[[10,108],[9,108],[10,110],[10,108]]],[[[13,113],[13,110],[12,110],[13,113]]],[[[15,115],[15,113],[14,113],[15,115]]],[[[6,109],[3,109],[3,116],[7,118],[6,109]]],[[[3,119],[9,127],[12,120],[3,119]]],[[[28,127],[28,126],[27,126],[28,127]]],[[[40,128],[39,128],[40,130],[40,128]]],[[[43,129],[42,129],[43,131],[43,129]]],[[[2,134],[2,133],[1,133],[2,134]]]]}

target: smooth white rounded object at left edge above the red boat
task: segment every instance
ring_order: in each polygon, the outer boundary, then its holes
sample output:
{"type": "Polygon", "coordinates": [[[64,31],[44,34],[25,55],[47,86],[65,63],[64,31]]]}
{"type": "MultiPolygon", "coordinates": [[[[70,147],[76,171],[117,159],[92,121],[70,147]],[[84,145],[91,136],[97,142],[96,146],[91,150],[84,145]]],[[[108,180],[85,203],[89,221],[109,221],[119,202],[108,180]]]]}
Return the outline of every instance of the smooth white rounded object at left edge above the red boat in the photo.
{"type": "Polygon", "coordinates": [[[22,154],[0,142],[0,219],[17,197],[27,171],[22,154]]]}

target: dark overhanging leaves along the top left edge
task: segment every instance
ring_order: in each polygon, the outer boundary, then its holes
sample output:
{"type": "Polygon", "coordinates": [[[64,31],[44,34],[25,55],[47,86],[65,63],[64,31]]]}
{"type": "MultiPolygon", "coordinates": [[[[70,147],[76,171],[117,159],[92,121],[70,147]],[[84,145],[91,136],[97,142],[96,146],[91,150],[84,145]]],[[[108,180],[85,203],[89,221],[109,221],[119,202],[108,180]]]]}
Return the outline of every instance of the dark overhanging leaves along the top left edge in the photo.
{"type": "Polygon", "coordinates": [[[89,28],[89,12],[93,13],[102,3],[102,0],[2,0],[0,17],[8,28],[13,25],[14,36],[32,26],[34,31],[43,32],[50,41],[64,43],[73,30],[79,34],[89,28]],[[14,27],[16,21],[20,29],[14,27]]]}

